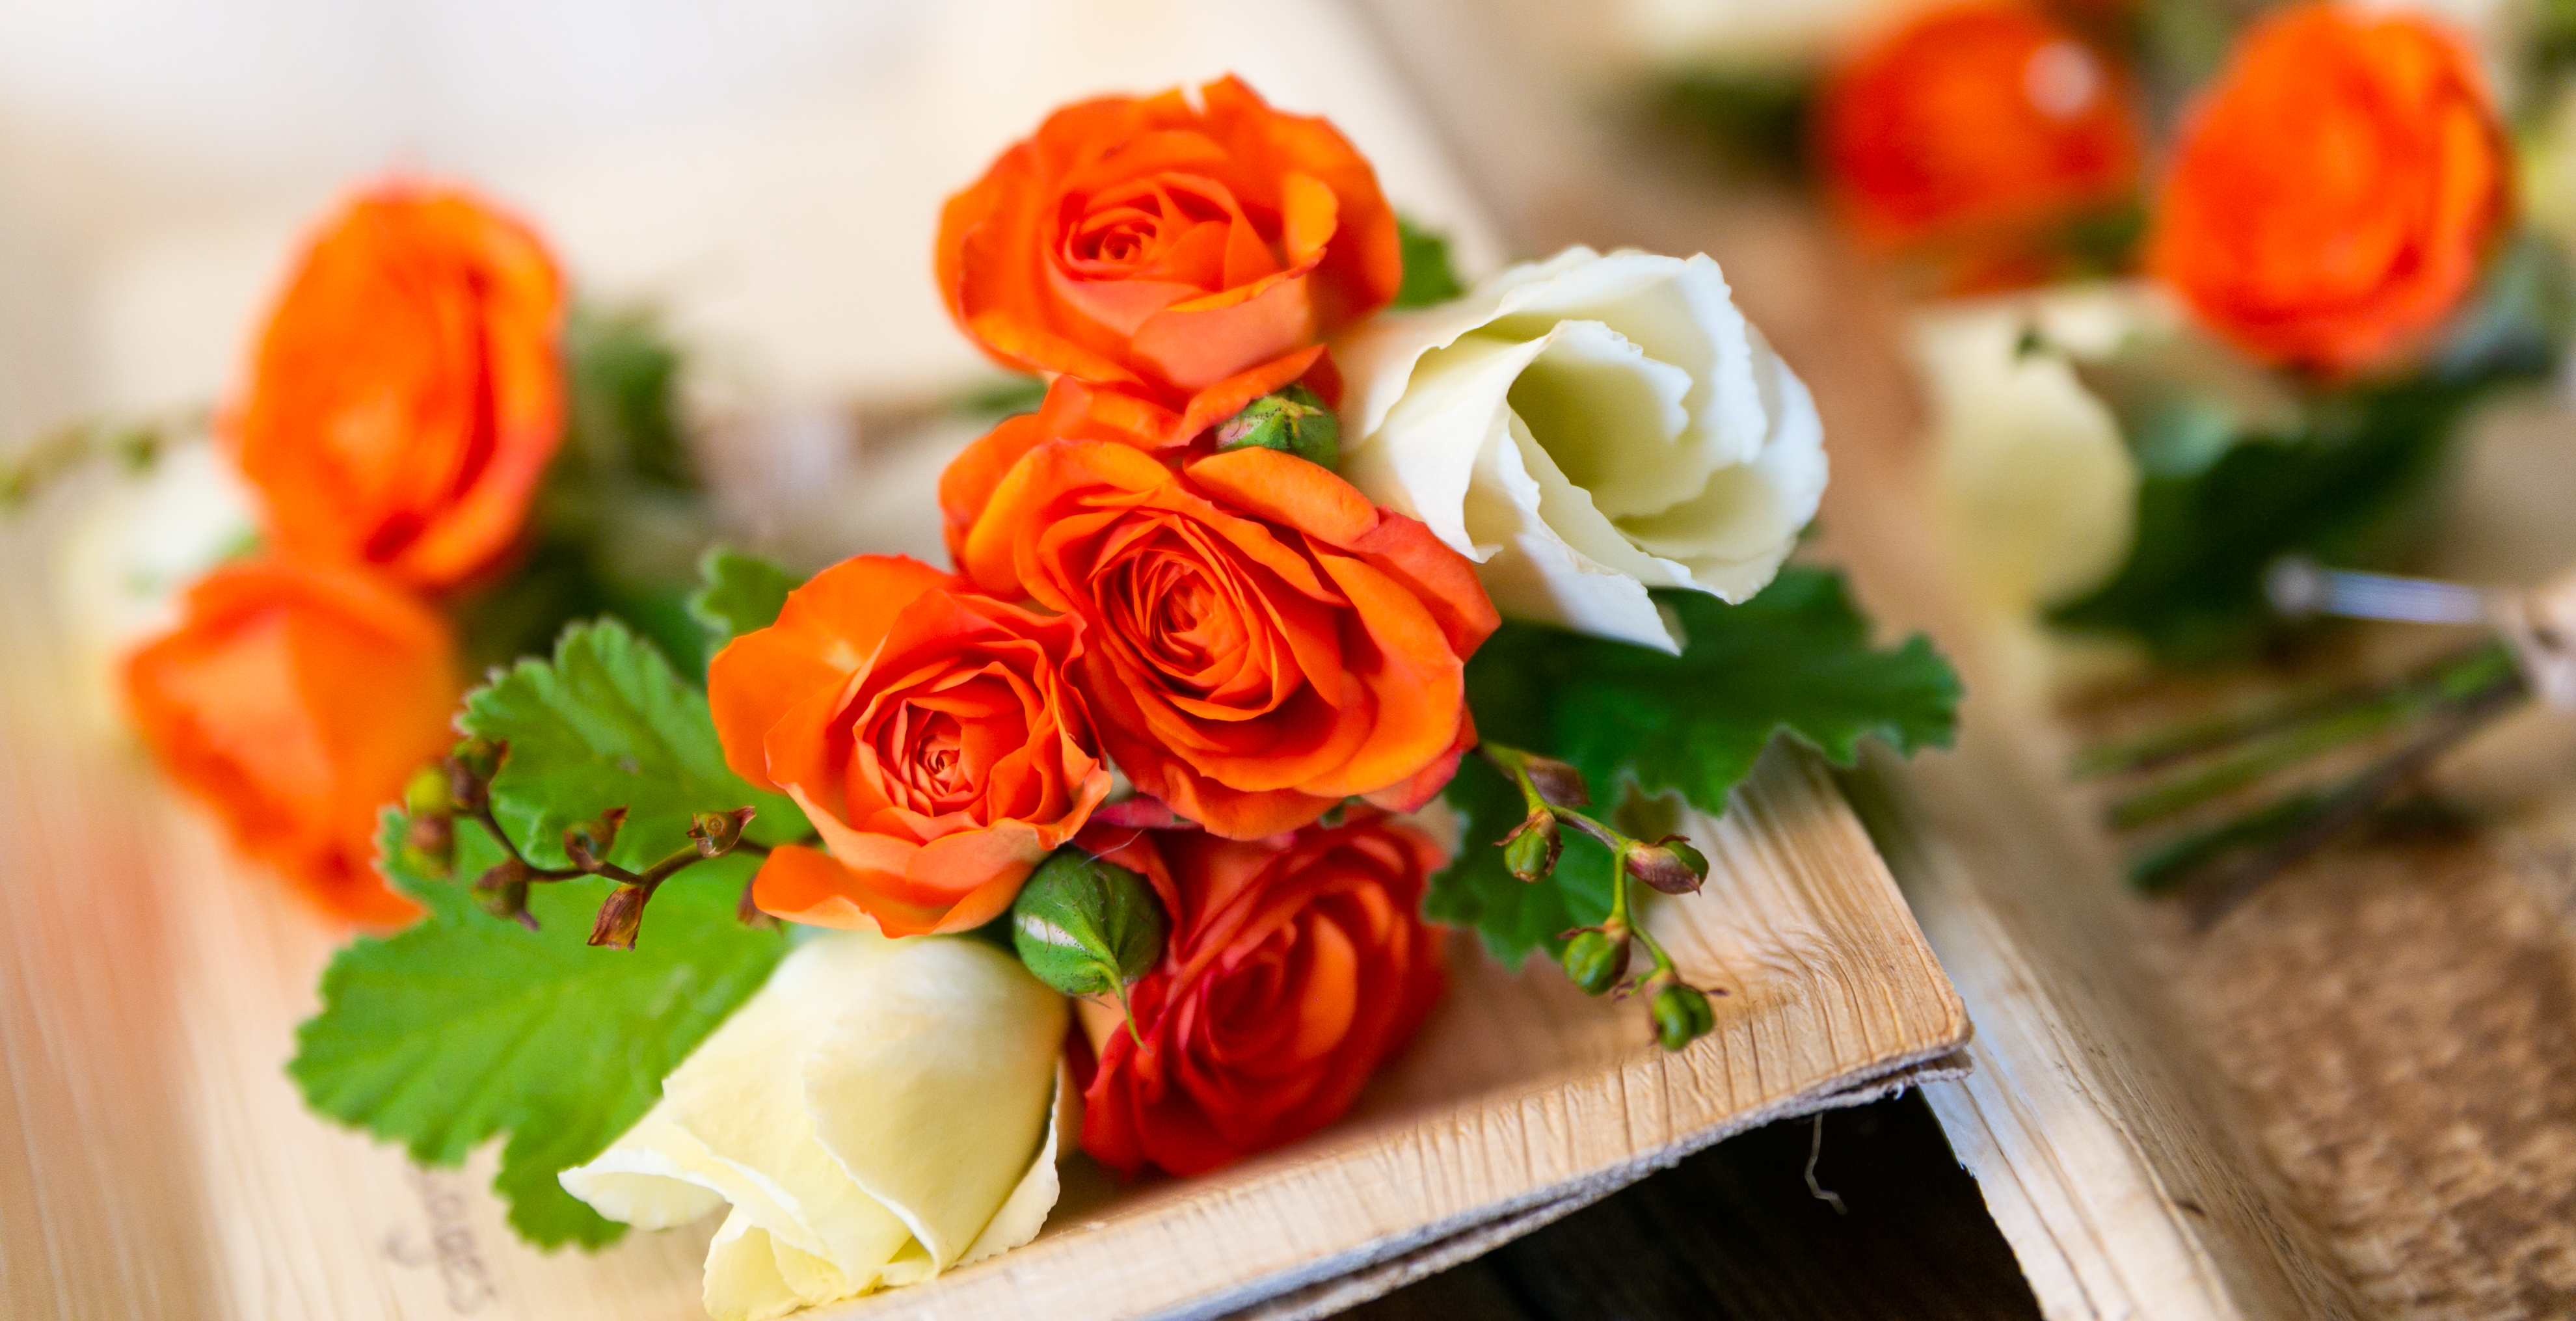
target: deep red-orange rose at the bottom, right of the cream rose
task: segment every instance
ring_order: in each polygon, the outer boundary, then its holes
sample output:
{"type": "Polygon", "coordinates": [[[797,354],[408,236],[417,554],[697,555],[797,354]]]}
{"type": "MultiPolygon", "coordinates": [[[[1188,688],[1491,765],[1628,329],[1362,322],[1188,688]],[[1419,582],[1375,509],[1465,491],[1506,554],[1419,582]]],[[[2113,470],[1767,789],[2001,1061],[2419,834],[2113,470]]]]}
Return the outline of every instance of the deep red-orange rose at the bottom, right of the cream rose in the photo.
{"type": "Polygon", "coordinates": [[[1358,809],[1285,839],[1095,839],[1172,914],[1162,963],[1128,986],[1144,1043],[1115,1007],[1082,1015],[1082,1148],[1121,1174],[1206,1174],[1324,1128],[1440,999],[1440,932],[1417,912],[1445,857],[1406,824],[1358,809]]]}

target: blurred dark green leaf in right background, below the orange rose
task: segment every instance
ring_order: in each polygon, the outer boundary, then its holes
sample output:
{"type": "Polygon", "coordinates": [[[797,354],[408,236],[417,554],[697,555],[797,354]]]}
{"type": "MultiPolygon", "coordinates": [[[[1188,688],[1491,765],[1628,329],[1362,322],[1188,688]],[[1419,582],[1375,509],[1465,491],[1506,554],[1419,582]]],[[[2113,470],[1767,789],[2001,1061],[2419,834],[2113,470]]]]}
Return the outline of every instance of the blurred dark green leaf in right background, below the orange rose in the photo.
{"type": "Polygon", "coordinates": [[[2262,595],[2275,559],[2393,564],[2429,530],[2452,427],[2486,389],[2414,379],[2329,394],[2308,402],[2298,435],[2146,474],[2120,572],[2050,621],[2133,636],[2166,664],[2251,654],[2282,626],[2262,595]]]}

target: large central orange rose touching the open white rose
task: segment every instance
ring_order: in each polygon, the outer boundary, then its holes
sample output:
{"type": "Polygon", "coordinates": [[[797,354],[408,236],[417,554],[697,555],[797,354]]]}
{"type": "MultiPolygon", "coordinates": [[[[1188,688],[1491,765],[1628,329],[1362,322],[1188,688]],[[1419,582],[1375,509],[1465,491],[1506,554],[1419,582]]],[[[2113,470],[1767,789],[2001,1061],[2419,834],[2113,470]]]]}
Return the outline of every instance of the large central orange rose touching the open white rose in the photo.
{"type": "Polygon", "coordinates": [[[1110,757],[1216,834],[1296,829],[1352,793],[1419,806],[1476,742],[1466,657],[1499,623],[1476,567],[1303,458],[1175,471],[1048,440],[961,564],[1090,626],[1082,690],[1110,757]]]}

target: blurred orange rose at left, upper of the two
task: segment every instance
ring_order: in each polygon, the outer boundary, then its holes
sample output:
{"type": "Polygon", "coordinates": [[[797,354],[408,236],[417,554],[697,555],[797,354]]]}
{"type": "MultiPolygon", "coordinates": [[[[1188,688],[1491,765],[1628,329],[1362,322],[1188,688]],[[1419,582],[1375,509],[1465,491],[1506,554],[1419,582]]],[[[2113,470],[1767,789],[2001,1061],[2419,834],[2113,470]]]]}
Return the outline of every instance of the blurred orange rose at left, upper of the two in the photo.
{"type": "Polygon", "coordinates": [[[268,317],[234,420],[281,551],[453,587],[518,536],[564,430],[564,286],[456,191],[350,201],[268,317]]]}

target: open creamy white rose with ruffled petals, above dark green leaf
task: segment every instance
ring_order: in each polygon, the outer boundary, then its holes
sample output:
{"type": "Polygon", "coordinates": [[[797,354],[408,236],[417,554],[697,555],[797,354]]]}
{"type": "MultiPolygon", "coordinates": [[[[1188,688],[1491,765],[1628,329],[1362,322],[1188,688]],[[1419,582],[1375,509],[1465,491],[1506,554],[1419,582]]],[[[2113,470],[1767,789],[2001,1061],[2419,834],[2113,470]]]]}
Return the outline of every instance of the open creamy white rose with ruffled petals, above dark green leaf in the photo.
{"type": "Polygon", "coordinates": [[[1816,402],[1705,255],[1569,247],[1334,361],[1342,476],[1510,618],[1680,651],[1646,590],[1752,597],[1824,494],[1816,402]]]}

